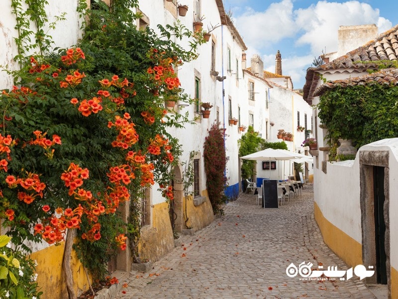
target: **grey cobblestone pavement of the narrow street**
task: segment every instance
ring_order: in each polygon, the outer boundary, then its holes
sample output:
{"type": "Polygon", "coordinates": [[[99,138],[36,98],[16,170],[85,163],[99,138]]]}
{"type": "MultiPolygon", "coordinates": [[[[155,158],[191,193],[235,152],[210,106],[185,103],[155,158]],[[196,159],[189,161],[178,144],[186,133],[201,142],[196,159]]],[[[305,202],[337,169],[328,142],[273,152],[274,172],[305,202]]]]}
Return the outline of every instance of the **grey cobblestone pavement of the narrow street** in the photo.
{"type": "Polygon", "coordinates": [[[256,196],[242,194],[228,203],[224,216],[195,236],[182,236],[183,245],[150,272],[131,272],[117,298],[376,298],[355,275],[349,281],[287,276],[291,263],[347,269],[322,241],[311,185],[279,209],[262,209],[256,196]]]}

